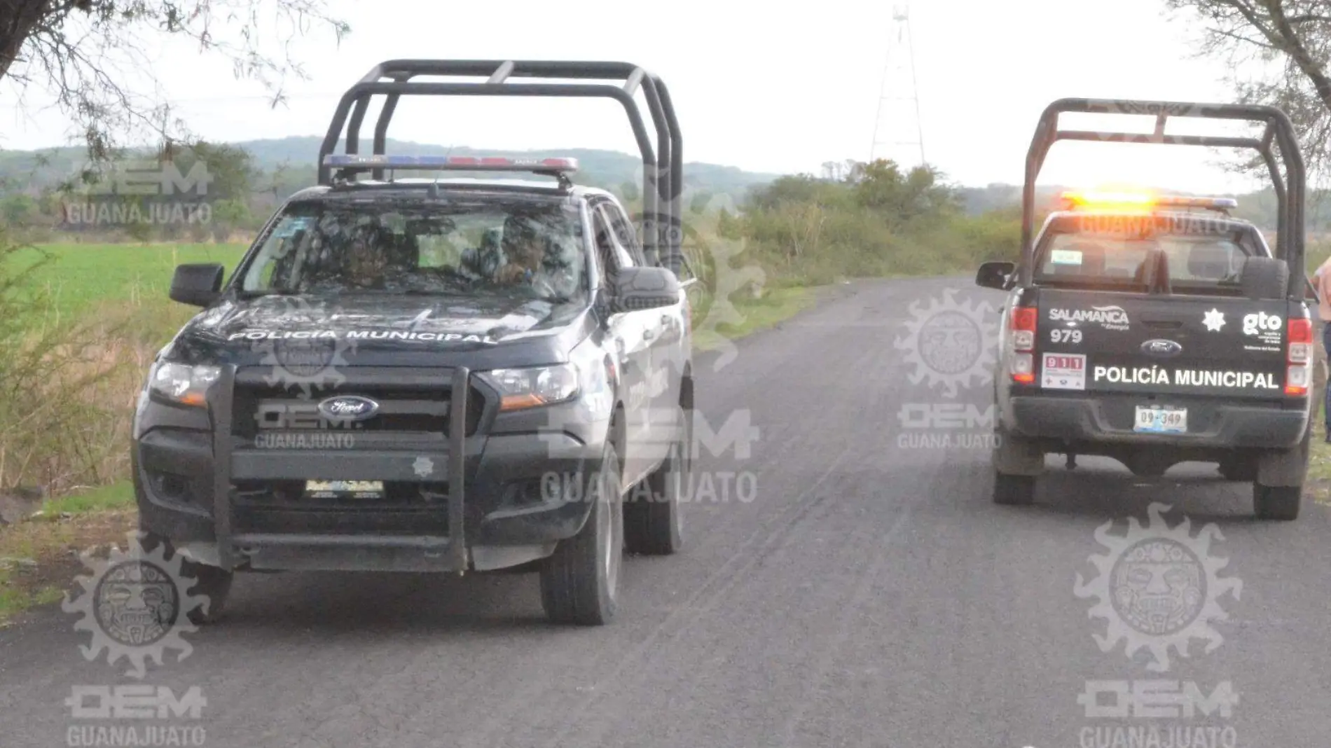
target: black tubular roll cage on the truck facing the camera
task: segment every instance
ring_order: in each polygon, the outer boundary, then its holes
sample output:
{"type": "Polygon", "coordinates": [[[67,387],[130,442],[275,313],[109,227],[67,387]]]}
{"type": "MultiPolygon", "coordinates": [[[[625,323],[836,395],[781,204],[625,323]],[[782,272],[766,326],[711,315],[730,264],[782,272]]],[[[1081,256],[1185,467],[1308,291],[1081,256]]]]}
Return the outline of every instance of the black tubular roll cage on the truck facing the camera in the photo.
{"type": "MultiPolygon", "coordinates": [[[[358,154],[361,125],[374,96],[386,100],[374,124],[374,154],[382,156],[387,140],[389,122],[398,100],[406,96],[547,96],[614,98],[623,105],[634,138],[643,158],[643,250],[651,265],[663,265],[679,274],[681,265],[680,193],[684,185],[684,160],[679,121],[671,104],[669,91],[662,80],[630,63],[532,61],[532,60],[389,60],[375,65],[359,83],[353,85],[338,102],[327,134],[319,146],[318,184],[333,184],[333,168],[323,157],[337,149],[345,136],[346,154],[358,154]],[[483,83],[423,83],[417,76],[479,77],[483,83]],[[566,79],[566,80],[620,80],[623,84],[584,83],[508,83],[510,77],[566,79]],[[389,80],[383,80],[389,79],[389,80]],[[656,129],[656,145],[647,134],[634,98],[638,89],[647,98],[647,108],[656,129]],[[663,257],[664,254],[664,257],[663,257]],[[664,260],[664,262],[663,262],[664,260]]],[[[339,169],[342,170],[342,169],[339,169]]],[[[349,170],[370,170],[373,178],[383,178],[382,166],[353,166],[349,170]]]]}

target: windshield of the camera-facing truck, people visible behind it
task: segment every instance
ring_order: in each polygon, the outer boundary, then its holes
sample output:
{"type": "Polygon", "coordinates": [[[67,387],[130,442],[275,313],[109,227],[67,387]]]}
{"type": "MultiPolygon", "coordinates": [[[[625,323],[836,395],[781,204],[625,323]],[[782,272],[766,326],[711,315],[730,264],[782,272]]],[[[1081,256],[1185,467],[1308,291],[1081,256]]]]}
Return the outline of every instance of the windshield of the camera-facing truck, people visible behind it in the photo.
{"type": "Polygon", "coordinates": [[[580,210],[554,201],[297,202],[249,262],[250,294],[586,294],[580,210]]]}

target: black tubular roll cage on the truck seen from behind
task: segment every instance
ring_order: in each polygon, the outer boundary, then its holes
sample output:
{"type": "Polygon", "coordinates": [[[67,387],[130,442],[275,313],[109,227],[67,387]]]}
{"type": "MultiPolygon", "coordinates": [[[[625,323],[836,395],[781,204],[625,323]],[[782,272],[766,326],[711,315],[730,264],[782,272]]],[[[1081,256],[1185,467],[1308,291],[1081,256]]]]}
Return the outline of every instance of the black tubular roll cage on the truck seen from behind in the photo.
{"type": "Polygon", "coordinates": [[[1303,204],[1307,176],[1298,136],[1288,114],[1275,106],[1255,104],[1187,104],[1179,101],[1134,101],[1118,98],[1059,98],[1045,108],[1036,128],[1036,137],[1026,153],[1026,181],[1021,196],[1021,264],[1020,282],[1030,285],[1034,268],[1036,178],[1045,164],[1050,146],[1059,140],[1101,142],[1150,142],[1161,145],[1201,145],[1210,148],[1247,148],[1256,150],[1266,164],[1279,205],[1276,212],[1275,256],[1290,266],[1290,298],[1302,298],[1307,278],[1303,274],[1303,204]],[[1154,114],[1155,132],[1118,133],[1058,129],[1058,116],[1063,112],[1093,114],[1154,114]],[[1239,120],[1264,122],[1262,137],[1221,137],[1165,134],[1170,117],[1201,117],[1210,120],[1239,120]],[[1272,153],[1279,150],[1279,162],[1272,153]],[[1280,166],[1284,166],[1283,174],[1280,166]],[[1302,282],[1300,282],[1302,280],[1302,282]]]}

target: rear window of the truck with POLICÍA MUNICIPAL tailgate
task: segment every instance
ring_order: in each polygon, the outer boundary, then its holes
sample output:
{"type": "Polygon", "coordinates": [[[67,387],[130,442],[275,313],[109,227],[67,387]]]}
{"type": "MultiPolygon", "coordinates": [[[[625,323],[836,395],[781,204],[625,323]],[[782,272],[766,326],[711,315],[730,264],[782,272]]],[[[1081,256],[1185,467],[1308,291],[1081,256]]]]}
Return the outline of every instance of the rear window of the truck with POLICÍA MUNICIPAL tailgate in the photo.
{"type": "Polygon", "coordinates": [[[1174,289],[1238,287],[1250,250],[1240,234],[1050,234],[1037,254],[1036,282],[1047,286],[1146,286],[1158,254],[1174,289]]]}

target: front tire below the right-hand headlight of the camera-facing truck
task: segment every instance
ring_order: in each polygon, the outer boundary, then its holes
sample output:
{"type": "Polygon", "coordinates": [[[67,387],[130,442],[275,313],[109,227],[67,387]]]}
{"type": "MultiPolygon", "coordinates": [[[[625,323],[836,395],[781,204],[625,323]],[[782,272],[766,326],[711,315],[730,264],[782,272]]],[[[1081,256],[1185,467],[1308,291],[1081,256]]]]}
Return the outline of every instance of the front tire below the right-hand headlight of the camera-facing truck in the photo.
{"type": "Polygon", "coordinates": [[[540,603],[552,623],[604,626],[615,618],[624,558],[624,503],[619,455],[612,445],[606,445],[602,467],[588,483],[587,522],[576,535],[560,540],[540,567],[540,603]]]}

